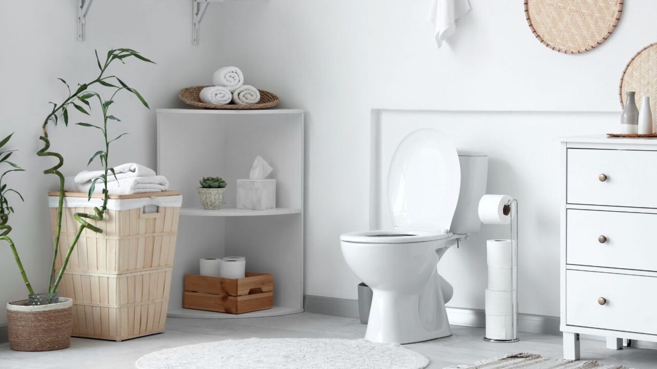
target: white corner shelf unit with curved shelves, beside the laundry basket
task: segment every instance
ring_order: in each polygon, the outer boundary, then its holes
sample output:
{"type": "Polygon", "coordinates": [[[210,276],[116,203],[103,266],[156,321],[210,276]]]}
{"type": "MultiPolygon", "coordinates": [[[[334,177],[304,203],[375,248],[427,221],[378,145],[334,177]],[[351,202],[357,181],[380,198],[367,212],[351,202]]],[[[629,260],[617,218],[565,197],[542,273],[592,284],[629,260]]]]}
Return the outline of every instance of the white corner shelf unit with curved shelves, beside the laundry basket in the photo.
{"type": "Polygon", "coordinates": [[[179,234],[168,316],[255,318],[301,313],[304,293],[304,112],[273,110],[157,110],[158,174],[181,190],[179,234]],[[256,156],[273,168],[276,205],[236,209],[237,180],[248,178],[256,156]],[[200,206],[201,177],[228,182],[218,210],[200,206]],[[198,273],[199,259],[240,255],[246,269],[274,275],[274,307],[233,315],[183,309],[185,273],[198,273]]]}

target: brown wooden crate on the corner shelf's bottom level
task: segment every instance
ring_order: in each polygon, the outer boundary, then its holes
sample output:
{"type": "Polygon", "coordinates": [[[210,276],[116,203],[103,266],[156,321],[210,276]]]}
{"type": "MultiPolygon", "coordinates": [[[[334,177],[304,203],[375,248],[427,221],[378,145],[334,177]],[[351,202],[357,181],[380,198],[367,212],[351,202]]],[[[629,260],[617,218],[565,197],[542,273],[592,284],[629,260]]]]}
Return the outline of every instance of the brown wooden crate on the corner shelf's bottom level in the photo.
{"type": "Polygon", "coordinates": [[[273,289],[274,276],[267,273],[238,279],[185,274],[183,307],[231,314],[271,309],[273,289]]]}

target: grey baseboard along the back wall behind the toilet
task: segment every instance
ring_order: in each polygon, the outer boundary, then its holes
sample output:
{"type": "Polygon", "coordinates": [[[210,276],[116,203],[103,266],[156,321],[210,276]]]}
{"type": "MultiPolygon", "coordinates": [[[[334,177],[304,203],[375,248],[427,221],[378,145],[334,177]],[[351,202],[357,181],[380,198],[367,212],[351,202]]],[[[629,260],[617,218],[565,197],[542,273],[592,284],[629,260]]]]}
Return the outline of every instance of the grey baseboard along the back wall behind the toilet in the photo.
{"type": "MultiPolygon", "coordinates": [[[[304,311],[357,318],[358,300],[305,295],[304,311]]],[[[482,309],[447,307],[447,316],[449,323],[455,326],[486,327],[486,313],[482,309]]],[[[561,334],[558,316],[520,314],[518,315],[518,330],[541,334],[561,334]]]]}

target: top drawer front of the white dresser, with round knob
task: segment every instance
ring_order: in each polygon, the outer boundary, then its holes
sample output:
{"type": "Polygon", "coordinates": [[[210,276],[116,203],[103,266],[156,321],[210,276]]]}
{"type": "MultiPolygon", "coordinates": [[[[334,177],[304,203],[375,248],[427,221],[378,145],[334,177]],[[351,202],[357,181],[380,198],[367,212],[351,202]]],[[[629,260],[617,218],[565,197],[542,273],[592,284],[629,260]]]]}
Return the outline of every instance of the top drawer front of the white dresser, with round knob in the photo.
{"type": "Polygon", "coordinates": [[[567,201],[657,207],[656,163],[654,151],[569,148],[567,201]],[[606,179],[600,181],[600,175],[606,179]]]}

